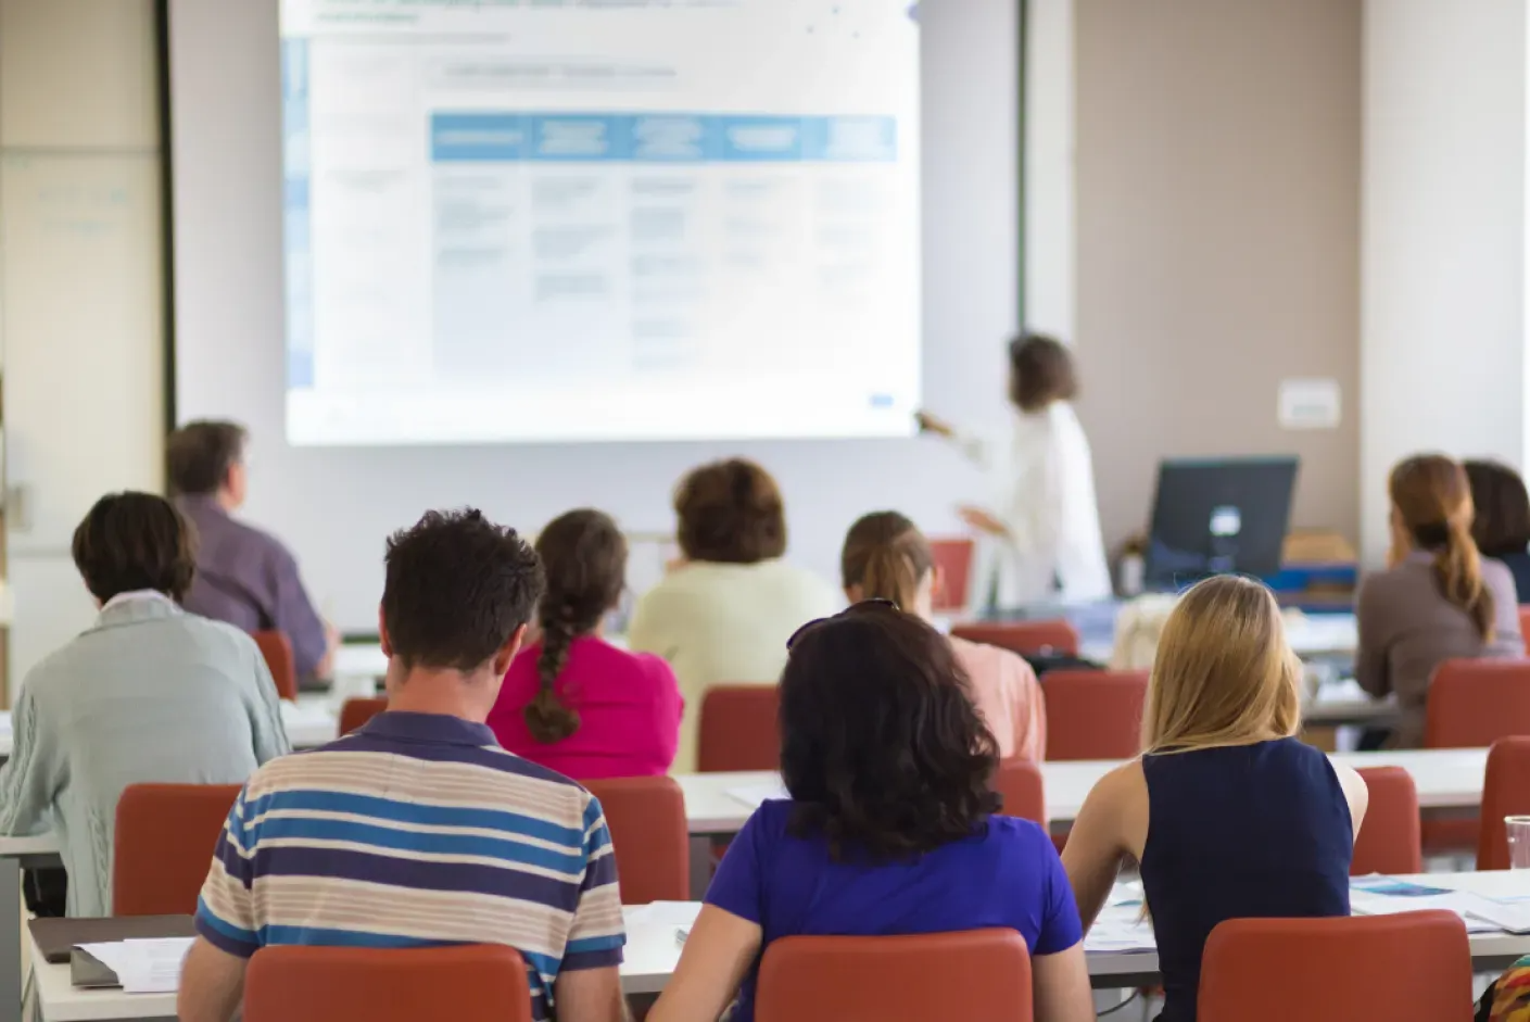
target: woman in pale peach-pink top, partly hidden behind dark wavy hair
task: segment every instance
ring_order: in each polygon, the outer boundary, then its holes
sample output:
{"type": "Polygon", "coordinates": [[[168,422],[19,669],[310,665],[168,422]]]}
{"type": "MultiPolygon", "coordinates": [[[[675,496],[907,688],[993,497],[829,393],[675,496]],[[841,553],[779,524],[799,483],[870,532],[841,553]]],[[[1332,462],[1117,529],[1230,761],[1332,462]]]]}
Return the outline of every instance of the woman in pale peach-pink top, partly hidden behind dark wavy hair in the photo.
{"type": "MultiPolygon", "coordinates": [[[[852,603],[892,600],[926,620],[941,583],[929,542],[897,511],[877,511],[851,526],[840,575],[852,603]]],[[[1047,708],[1031,666],[996,646],[959,638],[950,644],[972,681],[972,699],[999,744],[999,756],[1040,762],[1047,753],[1047,708]]]]}

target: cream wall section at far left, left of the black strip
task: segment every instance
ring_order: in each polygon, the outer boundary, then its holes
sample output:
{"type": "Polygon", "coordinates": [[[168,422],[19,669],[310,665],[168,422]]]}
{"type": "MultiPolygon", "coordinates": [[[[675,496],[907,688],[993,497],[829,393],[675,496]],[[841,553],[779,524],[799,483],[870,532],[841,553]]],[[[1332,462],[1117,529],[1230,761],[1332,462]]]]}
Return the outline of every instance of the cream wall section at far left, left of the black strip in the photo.
{"type": "Polygon", "coordinates": [[[11,692],[95,609],[69,557],[109,490],[159,490],[153,0],[0,0],[0,343],[11,692]]]}

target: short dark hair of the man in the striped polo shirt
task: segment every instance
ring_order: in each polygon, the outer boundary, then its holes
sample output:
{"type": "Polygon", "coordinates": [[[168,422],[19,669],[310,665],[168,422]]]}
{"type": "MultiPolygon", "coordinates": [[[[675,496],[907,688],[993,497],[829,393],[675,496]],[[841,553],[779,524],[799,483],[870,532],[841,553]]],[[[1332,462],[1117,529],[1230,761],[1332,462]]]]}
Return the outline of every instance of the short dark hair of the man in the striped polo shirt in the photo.
{"type": "Polygon", "coordinates": [[[542,561],[482,511],[427,511],[387,542],[382,623],[404,667],[474,670],[531,621],[542,561]]]}

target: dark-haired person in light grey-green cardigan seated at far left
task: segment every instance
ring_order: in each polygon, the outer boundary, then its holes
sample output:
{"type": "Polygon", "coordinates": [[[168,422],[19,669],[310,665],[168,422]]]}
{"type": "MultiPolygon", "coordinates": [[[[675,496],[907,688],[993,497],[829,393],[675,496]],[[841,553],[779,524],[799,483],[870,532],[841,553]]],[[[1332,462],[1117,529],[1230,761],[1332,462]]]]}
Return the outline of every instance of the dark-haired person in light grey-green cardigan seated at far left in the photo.
{"type": "Polygon", "coordinates": [[[101,606],[28,672],[0,768],[0,834],[58,834],[67,912],[112,913],[116,802],[135,783],[243,783],[289,751],[271,672],[243,632],[185,614],[196,537],[170,502],[103,497],[75,531],[101,606]]]}

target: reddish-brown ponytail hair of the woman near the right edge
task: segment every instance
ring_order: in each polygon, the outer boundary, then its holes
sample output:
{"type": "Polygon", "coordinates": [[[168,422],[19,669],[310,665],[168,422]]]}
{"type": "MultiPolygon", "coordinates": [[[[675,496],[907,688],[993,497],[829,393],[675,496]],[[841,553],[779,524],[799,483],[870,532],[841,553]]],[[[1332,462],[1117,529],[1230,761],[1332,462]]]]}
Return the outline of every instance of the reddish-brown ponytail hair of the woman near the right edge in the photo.
{"type": "Polygon", "coordinates": [[[1409,457],[1392,470],[1392,508],[1414,540],[1434,554],[1440,595],[1472,618],[1484,643],[1493,640],[1493,592],[1483,581],[1483,555],[1472,539],[1472,490],[1466,470],[1443,454],[1409,457]]]}

